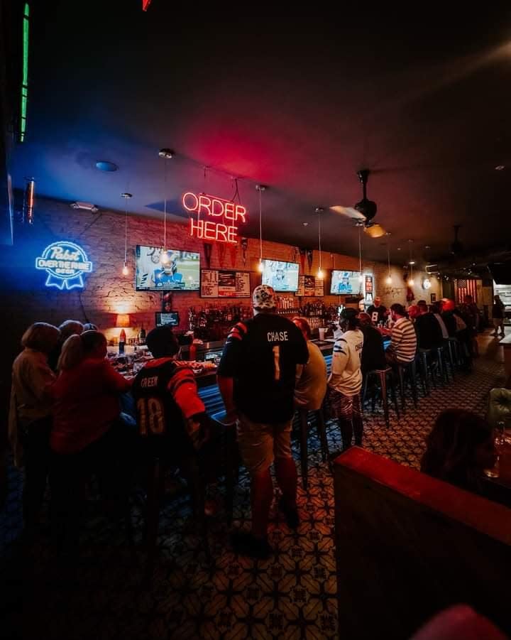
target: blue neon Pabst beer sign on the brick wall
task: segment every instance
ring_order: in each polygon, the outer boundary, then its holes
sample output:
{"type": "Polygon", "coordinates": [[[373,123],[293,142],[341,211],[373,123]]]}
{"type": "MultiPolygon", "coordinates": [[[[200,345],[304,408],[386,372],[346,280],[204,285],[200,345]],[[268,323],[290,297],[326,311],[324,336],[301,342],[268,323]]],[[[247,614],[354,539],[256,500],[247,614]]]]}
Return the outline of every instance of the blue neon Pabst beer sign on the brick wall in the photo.
{"type": "Polygon", "coordinates": [[[91,273],[92,262],[87,254],[74,242],[48,244],[43,255],[35,259],[35,269],[48,273],[45,285],[57,289],[83,288],[82,275],[91,273]]]}

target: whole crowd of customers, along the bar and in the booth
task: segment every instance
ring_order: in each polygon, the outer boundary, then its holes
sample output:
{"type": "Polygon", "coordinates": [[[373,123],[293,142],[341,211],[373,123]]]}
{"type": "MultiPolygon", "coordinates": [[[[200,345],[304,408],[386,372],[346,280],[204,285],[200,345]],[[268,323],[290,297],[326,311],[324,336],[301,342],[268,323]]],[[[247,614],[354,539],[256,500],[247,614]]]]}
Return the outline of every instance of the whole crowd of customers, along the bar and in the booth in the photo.
{"type": "MultiPolygon", "coordinates": [[[[451,300],[434,305],[419,300],[407,310],[398,303],[387,310],[376,298],[367,313],[344,308],[333,327],[327,375],[307,319],[288,320],[275,313],[277,298],[270,286],[256,287],[252,301],[253,318],[229,332],[218,384],[225,423],[236,423],[239,450],[251,477],[252,528],[233,534],[233,548],[267,558],[272,553],[267,531],[273,464],[281,493],[278,507],[288,526],[300,524],[291,450],[297,408],[326,408],[338,421],[343,449],[353,442],[361,446],[364,376],[406,366],[420,349],[437,349],[453,338],[468,369],[477,354],[479,313],[471,296],[458,307],[451,300]]],[[[157,327],[146,342],[153,359],[128,378],[111,366],[106,338],[94,325],[35,322],[23,335],[23,351],[13,362],[9,433],[16,463],[25,468],[23,519],[28,531],[37,526],[48,482],[58,535],[76,541],[84,479],[92,470],[114,499],[122,499],[130,482],[130,452],[140,452],[141,442],[149,454],[165,455],[185,475],[199,454],[211,448],[215,428],[192,370],[176,359],[179,346],[172,329],[157,327]],[[121,413],[120,398],[128,393],[136,407],[136,429],[121,413]]],[[[477,470],[492,454],[488,426],[470,416],[446,413],[439,418],[429,437],[424,472],[475,487],[477,470]],[[457,447],[464,448],[464,457],[455,454],[457,447]],[[462,459],[471,460],[471,470],[462,459]]]]}

